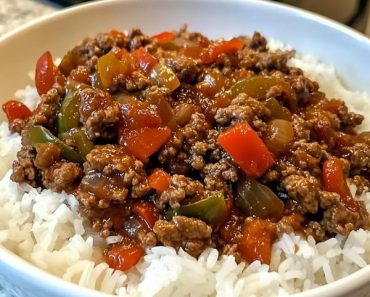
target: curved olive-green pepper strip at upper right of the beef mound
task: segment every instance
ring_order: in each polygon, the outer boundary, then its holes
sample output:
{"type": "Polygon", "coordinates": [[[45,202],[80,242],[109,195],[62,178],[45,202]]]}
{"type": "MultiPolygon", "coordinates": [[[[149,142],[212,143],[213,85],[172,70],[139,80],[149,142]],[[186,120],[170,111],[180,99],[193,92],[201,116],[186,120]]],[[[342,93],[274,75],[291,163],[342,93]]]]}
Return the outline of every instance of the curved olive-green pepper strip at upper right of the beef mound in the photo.
{"type": "Polygon", "coordinates": [[[289,107],[296,108],[295,94],[289,83],[278,77],[253,76],[244,78],[236,82],[230,89],[231,95],[236,97],[240,93],[245,93],[253,98],[264,98],[266,93],[274,86],[282,88],[289,99],[289,107]]]}

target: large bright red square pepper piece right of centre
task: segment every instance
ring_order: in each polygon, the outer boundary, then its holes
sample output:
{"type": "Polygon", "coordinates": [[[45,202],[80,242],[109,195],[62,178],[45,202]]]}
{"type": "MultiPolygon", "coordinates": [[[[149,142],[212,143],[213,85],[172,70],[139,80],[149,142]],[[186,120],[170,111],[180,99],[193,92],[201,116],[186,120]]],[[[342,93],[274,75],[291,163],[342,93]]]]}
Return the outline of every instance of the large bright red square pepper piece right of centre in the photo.
{"type": "Polygon", "coordinates": [[[217,142],[248,177],[258,178],[274,164],[270,151],[246,122],[221,133],[217,142]]]}

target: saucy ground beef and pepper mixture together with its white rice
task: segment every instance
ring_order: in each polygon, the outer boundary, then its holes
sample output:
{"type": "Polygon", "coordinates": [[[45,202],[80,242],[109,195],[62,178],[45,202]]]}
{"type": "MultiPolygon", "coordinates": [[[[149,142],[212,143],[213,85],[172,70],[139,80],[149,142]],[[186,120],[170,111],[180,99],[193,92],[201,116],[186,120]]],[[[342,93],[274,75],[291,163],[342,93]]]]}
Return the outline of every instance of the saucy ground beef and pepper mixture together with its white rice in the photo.
{"type": "Polygon", "coordinates": [[[366,94],[329,97],[332,68],[186,27],[40,54],[2,106],[5,247],[120,296],[283,296],[370,262],[366,94]]]}

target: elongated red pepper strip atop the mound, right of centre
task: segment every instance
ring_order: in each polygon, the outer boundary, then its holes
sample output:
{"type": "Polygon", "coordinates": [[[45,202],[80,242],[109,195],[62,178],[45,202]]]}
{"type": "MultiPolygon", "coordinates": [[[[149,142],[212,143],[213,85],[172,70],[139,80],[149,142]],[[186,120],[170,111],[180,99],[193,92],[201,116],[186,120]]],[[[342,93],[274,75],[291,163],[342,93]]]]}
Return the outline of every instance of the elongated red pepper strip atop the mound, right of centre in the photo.
{"type": "Polygon", "coordinates": [[[238,38],[213,43],[202,53],[202,61],[204,64],[211,64],[217,60],[219,55],[235,53],[243,46],[244,42],[238,38]]]}

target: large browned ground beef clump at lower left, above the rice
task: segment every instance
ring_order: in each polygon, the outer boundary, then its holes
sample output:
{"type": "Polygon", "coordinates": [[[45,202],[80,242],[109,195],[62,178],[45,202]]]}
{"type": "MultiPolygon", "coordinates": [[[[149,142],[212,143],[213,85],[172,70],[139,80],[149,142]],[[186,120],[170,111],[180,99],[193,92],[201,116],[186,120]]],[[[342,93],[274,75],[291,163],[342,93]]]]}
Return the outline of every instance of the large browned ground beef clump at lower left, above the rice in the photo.
{"type": "Polygon", "coordinates": [[[77,198],[86,207],[106,208],[111,201],[123,203],[128,195],[139,198],[150,190],[143,163],[119,145],[93,149],[86,156],[84,172],[77,198]]]}

